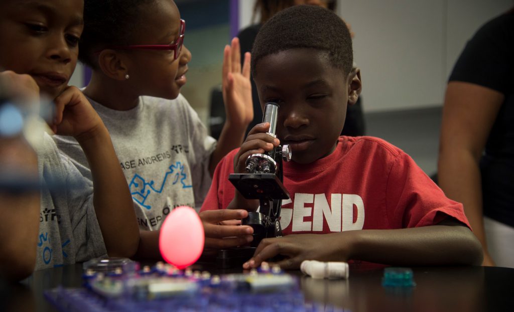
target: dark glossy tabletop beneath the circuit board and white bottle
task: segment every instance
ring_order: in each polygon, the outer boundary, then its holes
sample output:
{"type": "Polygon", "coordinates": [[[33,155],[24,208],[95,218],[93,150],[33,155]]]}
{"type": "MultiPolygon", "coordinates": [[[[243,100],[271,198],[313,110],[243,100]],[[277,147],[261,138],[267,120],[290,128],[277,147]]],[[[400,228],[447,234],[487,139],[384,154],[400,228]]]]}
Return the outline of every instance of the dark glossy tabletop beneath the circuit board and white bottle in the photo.
{"type": "MultiPolygon", "coordinates": [[[[514,269],[501,267],[412,268],[415,287],[383,287],[383,269],[350,267],[347,280],[302,276],[305,300],[344,311],[512,311],[514,269]]],[[[232,271],[210,270],[213,273],[232,271]]],[[[235,270],[237,271],[237,270],[235,270]]],[[[80,287],[82,265],[35,271],[22,283],[0,283],[0,311],[56,311],[43,296],[46,289],[80,287]]]]}

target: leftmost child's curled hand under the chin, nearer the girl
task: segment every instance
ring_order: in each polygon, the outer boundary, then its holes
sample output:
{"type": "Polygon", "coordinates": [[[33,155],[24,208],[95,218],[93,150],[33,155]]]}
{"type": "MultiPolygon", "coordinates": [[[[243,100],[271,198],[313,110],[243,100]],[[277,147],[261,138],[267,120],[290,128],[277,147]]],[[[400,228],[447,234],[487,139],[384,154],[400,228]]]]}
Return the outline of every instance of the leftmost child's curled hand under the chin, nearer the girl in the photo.
{"type": "Polygon", "coordinates": [[[87,139],[105,127],[93,106],[76,87],[67,87],[54,103],[56,114],[49,125],[56,134],[87,139]]]}

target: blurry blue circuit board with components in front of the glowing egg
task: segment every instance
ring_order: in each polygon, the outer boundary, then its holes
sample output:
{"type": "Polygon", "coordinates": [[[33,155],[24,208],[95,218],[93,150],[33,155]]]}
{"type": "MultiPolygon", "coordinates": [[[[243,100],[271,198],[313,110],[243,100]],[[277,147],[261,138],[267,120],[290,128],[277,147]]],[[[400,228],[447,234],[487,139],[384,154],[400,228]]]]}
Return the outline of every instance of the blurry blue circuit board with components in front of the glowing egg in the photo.
{"type": "Polygon", "coordinates": [[[136,264],[107,272],[87,269],[83,278],[83,287],[58,287],[45,297],[61,311],[80,312],[344,311],[306,302],[298,278],[280,268],[217,276],[163,263],[136,264]]]}

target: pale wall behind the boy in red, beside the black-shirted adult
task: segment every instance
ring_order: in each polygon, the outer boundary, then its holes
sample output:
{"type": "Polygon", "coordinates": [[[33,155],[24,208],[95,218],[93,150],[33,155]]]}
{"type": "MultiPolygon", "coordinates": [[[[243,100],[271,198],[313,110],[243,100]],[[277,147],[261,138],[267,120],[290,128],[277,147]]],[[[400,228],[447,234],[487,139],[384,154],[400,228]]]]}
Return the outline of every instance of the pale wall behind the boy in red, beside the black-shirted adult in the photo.
{"type": "MultiPolygon", "coordinates": [[[[240,25],[253,0],[240,0],[240,25]]],[[[442,105],[446,80],[467,40],[512,0],[339,0],[355,33],[365,112],[442,105]]],[[[249,13],[248,13],[249,12],[249,13]]]]}

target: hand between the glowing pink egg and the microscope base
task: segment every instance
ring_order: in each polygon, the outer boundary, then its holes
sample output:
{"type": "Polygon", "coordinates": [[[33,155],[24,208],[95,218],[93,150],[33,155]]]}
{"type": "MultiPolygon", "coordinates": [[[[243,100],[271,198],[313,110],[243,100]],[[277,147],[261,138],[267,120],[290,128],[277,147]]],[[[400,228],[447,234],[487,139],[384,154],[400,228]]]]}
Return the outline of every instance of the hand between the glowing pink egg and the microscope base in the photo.
{"type": "Polygon", "coordinates": [[[248,216],[246,210],[206,210],[199,216],[204,225],[206,249],[237,247],[253,240],[253,229],[241,225],[241,219],[248,216]]]}

